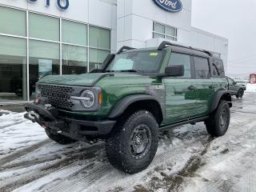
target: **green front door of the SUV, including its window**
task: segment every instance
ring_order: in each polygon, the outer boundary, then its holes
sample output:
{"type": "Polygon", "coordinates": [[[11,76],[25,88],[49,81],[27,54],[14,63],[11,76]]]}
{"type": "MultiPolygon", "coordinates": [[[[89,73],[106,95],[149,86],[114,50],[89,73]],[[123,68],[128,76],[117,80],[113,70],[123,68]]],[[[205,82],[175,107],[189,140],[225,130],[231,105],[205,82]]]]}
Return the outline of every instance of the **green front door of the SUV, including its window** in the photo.
{"type": "Polygon", "coordinates": [[[166,86],[166,123],[187,120],[194,113],[197,102],[196,89],[191,82],[190,54],[172,52],[168,65],[183,65],[184,76],[178,78],[163,78],[166,86]]]}

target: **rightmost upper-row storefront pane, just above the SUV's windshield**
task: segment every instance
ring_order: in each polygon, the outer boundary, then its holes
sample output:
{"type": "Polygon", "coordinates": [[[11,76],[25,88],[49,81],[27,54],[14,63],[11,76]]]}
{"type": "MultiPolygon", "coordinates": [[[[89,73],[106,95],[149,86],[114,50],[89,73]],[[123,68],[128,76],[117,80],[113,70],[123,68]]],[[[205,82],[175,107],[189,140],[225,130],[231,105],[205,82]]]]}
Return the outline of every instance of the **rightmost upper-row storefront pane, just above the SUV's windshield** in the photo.
{"type": "Polygon", "coordinates": [[[110,30],[90,26],[89,45],[94,48],[110,50],[110,30]]]}

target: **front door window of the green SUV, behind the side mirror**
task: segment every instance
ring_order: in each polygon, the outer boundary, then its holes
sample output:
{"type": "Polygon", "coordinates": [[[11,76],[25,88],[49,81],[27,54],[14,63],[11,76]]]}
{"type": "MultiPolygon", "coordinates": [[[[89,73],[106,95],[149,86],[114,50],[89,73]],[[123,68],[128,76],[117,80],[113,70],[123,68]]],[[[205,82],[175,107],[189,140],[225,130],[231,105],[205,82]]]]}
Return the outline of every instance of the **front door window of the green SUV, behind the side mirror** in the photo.
{"type": "Polygon", "coordinates": [[[169,66],[172,66],[172,65],[183,65],[184,66],[184,76],[182,78],[191,78],[190,55],[171,53],[169,66]]]}

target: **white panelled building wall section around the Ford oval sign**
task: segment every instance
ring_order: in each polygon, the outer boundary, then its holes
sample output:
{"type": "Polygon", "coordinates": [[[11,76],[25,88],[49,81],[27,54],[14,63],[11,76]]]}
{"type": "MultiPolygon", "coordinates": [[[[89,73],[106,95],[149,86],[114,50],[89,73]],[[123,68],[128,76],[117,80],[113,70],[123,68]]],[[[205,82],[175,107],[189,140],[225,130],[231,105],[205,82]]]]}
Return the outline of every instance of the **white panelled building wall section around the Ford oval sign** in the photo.
{"type": "Polygon", "coordinates": [[[163,39],[152,39],[153,22],[178,29],[178,43],[213,51],[227,65],[228,40],[191,26],[192,1],[182,0],[182,10],[170,13],[153,0],[117,0],[117,45],[133,47],[158,46],[163,39]]]}

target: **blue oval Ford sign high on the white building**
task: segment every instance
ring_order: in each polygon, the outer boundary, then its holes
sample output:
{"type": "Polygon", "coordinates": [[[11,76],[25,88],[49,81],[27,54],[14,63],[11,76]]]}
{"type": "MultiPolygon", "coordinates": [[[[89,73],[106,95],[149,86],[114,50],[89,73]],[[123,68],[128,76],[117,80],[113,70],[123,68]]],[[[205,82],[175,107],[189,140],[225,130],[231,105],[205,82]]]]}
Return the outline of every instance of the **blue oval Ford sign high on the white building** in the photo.
{"type": "Polygon", "coordinates": [[[182,10],[182,2],[180,0],[153,0],[154,3],[162,10],[170,12],[178,12],[182,10]]]}

